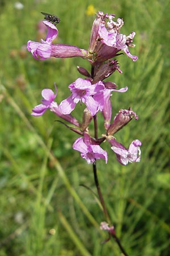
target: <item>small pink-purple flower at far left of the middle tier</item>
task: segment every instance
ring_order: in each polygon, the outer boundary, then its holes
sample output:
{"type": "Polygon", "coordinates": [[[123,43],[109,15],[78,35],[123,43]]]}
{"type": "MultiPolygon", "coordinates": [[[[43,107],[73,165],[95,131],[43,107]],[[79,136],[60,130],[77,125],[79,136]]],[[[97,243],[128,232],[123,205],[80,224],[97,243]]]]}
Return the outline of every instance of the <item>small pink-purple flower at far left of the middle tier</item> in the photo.
{"type": "Polygon", "coordinates": [[[56,98],[57,96],[57,88],[56,88],[56,94],[53,93],[53,91],[51,89],[44,89],[41,92],[42,95],[42,104],[35,106],[35,108],[32,109],[31,113],[32,115],[34,115],[35,117],[40,117],[42,114],[44,114],[44,112],[46,111],[46,109],[50,108],[50,105],[52,104],[52,102],[54,101],[54,98],[56,98]]]}

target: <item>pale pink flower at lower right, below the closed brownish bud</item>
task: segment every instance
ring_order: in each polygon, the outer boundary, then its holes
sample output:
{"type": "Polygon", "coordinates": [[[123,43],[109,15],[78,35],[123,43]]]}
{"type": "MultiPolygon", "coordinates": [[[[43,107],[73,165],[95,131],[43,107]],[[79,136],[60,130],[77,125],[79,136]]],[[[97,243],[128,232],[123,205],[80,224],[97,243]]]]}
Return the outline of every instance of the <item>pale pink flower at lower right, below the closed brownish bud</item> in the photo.
{"type": "Polygon", "coordinates": [[[107,140],[112,145],[111,148],[116,153],[118,162],[120,162],[122,165],[126,166],[128,163],[140,162],[140,146],[142,143],[138,139],[131,142],[129,149],[125,148],[121,143],[118,143],[114,137],[111,137],[111,139],[108,137],[107,140]]]}

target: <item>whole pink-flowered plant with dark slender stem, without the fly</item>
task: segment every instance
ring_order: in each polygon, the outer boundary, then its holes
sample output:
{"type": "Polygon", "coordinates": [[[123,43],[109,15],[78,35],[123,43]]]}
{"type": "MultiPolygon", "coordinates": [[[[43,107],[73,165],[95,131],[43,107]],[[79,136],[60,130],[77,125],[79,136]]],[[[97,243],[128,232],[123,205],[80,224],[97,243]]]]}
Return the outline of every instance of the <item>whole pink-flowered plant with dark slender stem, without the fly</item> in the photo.
{"type": "MultiPolygon", "coordinates": [[[[80,155],[88,164],[92,163],[97,192],[108,221],[108,212],[100,191],[96,170],[97,159],[103,158],[105,163],[108,162],[107,151],[101,148],[101,143],[108,141],[111,144],[111,149],[116,154],[118,162],[122,165],[139,162],[141,159],[141,142],[138,139],[135,139],[131,142],[129,148],[126,148],[117,142],[116,137],[114,137],[114,134],[127,125],[131,119],[137,120],[138,115],[131,108],[121,109],[112,121],[112,92],[124,93],[128,88],[117,89],[117,85],[114,82],[105,81],[105,79],[115,71],[122,73],[120,65],[115,59],[116,56],[122,54],[121,51],[133,61],[137,61],[138,57],[131,55],[129,51],[129,47],[134,47],[132,43],[135,32],[131,32],[128,36],[120,34],[120,29],[124,22],[122,19],[117,19],[116,22],[113,19],[113,14],[104,14],[102,11],[97,13],[92,25],[88,49],[81,49],[67,44],[52,44],[58,35],[58,30],[53,23],[47,20],[43,21],[48,30],[46,39],[41,39],[41,43],[29,40],[27,44],[28,51],[37,60],[45,60],[50,57],[68,58],[79,56],[87,60],[91,65],[91,73],[83,67],[77,67],[78,72],[84,76],[84,79],[79,77],[69,85],[71,95],[60,104],[55,101],[57,97],[56,85],[56,93],[51,89],[42,90],[41,104],[32,109],[32,115],[39,117],[47,109],[50,109],[58,117],[75,126],[67,125],[70,130],[80,135],[73,143],[73,148],[80,152],[80,155]],[[81,123],[71,115],[71,112],[76,108],[76,104],[82,105],[83,108],[81,123]],[[97,113],[99,112],[103,115],[105,129],[105,134],[100,137],[97,132],[97,113]],[[88,127],[92,120],[94,120],[94,137],[91,136],[91,131],[88,127]]],[[[128,255],[118,240],[113,226],[109,228],[109,224],[101,222],[101,229],[107,230],[109,239],[114,237],[122,253],[128,255]]]]}

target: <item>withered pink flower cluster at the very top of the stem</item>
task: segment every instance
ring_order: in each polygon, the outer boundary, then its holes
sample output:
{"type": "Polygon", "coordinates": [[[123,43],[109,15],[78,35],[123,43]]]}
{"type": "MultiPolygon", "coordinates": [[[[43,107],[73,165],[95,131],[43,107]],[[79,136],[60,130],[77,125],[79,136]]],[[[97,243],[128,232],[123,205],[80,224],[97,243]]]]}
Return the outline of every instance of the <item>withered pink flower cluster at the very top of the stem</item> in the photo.
{"type": "Polygon", "coordinates": [[[88,49],[91,53],[92,61],[101,62],[111,59],[121,50],[133,61],[136,61],[138,57],[131,55],[128,48],[129,46],[135,46],[132,44],[135,32],[131,32],[129,36],[120,34],[120,29],[124,25],[124,21],[122,19],[117,19],[117,22],[114,22],[113,18],[113,14],[108,15],[101,11],[97,13],[91,32],[93,36],[91,35],[90,46],[88,49]],[[109,19],[107,26],[105,26],[105,19],[109,19]]]}

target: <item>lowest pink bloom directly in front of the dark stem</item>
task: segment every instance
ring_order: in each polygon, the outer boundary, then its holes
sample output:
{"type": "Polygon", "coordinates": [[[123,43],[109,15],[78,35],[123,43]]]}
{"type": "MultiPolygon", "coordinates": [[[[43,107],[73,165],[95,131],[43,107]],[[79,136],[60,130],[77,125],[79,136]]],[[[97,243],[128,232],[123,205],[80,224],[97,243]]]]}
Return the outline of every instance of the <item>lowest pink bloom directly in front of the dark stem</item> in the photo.
{"type": "Polygon", "coordinates": [[[103,150],[99,145],[92,144],[90,135],[84,133],[84,139],[82,137],[76,139],[73,144],[73,148],[81,152],[82,158],[86,159],[87,163],[95,163],[96,159],[103,158],[105,162],[108,161],[107,151],[103,150]]]}

